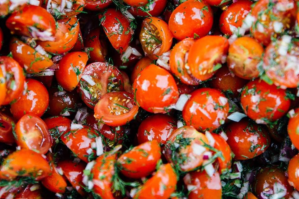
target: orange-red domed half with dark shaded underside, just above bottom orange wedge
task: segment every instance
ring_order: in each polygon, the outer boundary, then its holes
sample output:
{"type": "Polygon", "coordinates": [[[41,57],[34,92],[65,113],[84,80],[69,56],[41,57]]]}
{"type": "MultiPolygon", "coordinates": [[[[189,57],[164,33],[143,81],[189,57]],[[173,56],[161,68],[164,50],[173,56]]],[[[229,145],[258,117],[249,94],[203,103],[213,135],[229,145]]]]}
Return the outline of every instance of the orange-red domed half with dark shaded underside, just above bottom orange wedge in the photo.
{"type": "Polygon", "coordinates": [[[118,159],[121,173],[128,178],[142,178],[151,174],[161,158],[161,148],[158,141],[144,142],[130,151],[123,153],[118,159]]]}

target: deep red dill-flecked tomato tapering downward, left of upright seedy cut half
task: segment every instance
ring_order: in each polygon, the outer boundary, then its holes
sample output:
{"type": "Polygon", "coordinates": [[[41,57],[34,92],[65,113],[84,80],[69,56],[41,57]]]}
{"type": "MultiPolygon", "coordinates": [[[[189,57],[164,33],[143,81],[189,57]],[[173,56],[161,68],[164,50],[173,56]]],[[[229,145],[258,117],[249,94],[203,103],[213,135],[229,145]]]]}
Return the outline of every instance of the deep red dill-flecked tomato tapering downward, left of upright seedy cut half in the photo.
{"type": "Polygon", "coordinates": [[[113,48],[119,53],[126,51],[132,38],[130,22],[126,17],[120,11],[109,8],[99,15],[99,19],[113,48]]]}

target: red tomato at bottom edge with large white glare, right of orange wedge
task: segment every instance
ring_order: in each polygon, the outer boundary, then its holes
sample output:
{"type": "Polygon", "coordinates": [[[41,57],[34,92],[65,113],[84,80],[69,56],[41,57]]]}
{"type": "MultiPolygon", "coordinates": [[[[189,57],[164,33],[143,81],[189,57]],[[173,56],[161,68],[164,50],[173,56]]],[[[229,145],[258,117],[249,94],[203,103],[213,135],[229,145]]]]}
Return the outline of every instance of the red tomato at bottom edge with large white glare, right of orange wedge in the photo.
{"type": "Polygon", "coordinates": [[[213,176],[206,174],[206,171],[194,171],[183,178],[186,186],[194,186],[188,198],[221,199],[222,187],[220,175],[215,172],[213,176]]]}

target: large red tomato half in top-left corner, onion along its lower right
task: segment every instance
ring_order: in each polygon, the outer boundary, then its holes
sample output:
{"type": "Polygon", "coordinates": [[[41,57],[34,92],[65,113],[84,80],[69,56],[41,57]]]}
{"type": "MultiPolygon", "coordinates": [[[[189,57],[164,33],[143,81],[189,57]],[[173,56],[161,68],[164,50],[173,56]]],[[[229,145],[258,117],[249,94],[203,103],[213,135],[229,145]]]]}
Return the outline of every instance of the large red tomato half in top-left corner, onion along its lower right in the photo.
{"type": "Polygon", "coordinates": [[[25,5],[20,11],[13,12],[6,20],[12,34],[24,35],[41,41],[54,40],[55,20],[46,9],[25,5]]]}

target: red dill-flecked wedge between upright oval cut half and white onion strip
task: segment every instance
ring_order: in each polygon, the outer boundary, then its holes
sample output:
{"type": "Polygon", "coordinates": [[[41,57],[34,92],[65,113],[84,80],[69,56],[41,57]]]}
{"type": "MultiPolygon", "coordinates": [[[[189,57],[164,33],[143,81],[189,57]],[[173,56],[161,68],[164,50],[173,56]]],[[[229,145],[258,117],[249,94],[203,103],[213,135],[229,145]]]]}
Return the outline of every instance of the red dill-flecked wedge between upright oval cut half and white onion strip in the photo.
{"type": "MultiPolygon", "coordinates": [[[[91,143],[95,142],[95,138],[98,136],[93,128],[84,127],[65,132],[60,139],[78,158],[89,162],[87,150],[91,148],[91,143]]],[[[93,153],[96,154],[94,149],[93,153]]]]}

